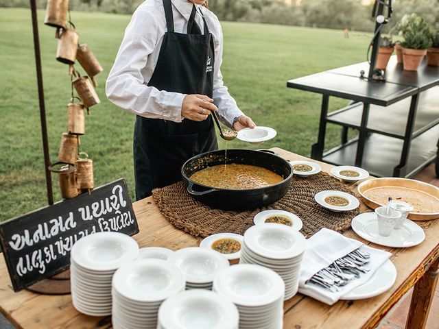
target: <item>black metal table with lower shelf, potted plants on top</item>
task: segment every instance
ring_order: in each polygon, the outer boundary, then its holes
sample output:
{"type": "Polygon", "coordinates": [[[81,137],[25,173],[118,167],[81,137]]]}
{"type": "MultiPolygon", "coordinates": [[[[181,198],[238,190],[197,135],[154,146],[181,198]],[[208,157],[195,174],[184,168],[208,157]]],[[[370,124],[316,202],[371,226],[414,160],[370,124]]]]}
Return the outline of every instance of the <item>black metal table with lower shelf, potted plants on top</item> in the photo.
{"type": "Polygon", "coordinates": [[[439,67],[425,61],[403,71],[392,56],[386,81],[367,80],[368,62],[289,80],[289,88],[322,94],[318,142],[311,158],[364,167],[372,175],[410,177],[438,158],[439,67]],[[328,113],[329,97],[353,103],[328,113]],[[343,127],[342,143],[324,152],[327,123],[343,127]],[[348,141],[348,127],[359,134],[348,141]]]}

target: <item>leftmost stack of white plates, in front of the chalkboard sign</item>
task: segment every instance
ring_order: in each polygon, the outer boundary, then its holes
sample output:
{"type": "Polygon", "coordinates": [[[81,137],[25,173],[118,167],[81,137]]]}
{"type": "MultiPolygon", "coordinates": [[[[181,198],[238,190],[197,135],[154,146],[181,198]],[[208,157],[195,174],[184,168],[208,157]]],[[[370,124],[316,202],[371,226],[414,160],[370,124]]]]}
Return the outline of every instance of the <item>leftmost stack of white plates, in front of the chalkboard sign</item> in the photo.
{"type": "Polygon", "coordinates": [[[110,315],[112,276],[137,254],[139,245],[123,233],[99,232],[75,243],[70,253],[73,306],[86,315],[110,315]]]}

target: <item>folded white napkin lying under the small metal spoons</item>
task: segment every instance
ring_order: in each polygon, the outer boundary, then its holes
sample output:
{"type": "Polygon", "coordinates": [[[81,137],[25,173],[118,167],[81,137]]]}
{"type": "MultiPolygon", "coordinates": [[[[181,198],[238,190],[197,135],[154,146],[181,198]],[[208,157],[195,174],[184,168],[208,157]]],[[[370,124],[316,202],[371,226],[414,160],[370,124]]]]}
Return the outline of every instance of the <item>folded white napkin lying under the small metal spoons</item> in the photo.
{"type": "Polygon", "coordinates": [[[375,249],[364,245],[360,241],[346,238],[340,233],[327,228],[322,228],[307,241],[307,249],[303,255],[302,268],[300,269],[299,292],[309,297],[313,297],[320,302],[332,305],[343,295],[355,287],[361,286],[375,273],[375,271],[385,263],[391,256],[390,252],[375,249]],[[339,291],[332,292],[329,289],[317,286],[316,284],[305,284],[315,273],[328,267],[338,258],[342,258],[361,247],[361,250],[370,254],[369,263],[364,265],[370,268],[368,273],[361,273],[359,278],[351,280],[345,286],[338,287],[339,291]]]}

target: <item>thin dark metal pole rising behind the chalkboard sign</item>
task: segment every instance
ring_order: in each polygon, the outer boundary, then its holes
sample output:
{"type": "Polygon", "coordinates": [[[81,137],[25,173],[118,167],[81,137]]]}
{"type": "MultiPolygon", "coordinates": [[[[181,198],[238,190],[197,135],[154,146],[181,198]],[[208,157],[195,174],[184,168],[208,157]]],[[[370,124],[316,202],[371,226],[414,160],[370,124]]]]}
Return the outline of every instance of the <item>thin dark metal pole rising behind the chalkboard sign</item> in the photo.
{"type": "Polygon", "coordinates": [[[41,71],[41,56],[40,56],[40,39],[38,36],[38,21],[36,18],[36,2],[30,0],[30,10],[32,12],[32,29],[34,31],[34,49],[35,49],[35,66],[36,66],[36,81],[38,84],[38,101],[40,103],[40,121],[41,121],[41,136],[43,137],[43,153],[46,173],[46,188],[47,188],[47,202],[54,204],[54,194],[52,193],[52,179],[49,171],[49,143],[47,141],[47,125],[46,125],[46,109],[44,103],[44,89],[43,89],[43,73],[41,71]]]}

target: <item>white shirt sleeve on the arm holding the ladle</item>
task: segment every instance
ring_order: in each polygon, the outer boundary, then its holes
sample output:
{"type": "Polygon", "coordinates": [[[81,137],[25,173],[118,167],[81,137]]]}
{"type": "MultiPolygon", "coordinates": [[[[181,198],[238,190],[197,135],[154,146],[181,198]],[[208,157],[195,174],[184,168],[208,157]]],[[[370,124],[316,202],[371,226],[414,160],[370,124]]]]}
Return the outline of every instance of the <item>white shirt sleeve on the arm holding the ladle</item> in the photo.
{"type": "Polygon", "coordinates": [[[158,47],[158,23],[154,12],[137,10],[126,28],[115,64],[106,81],[106,95],[128,112],[151,119],[181,122],[185,94],[147,86],[141,70],[158,47]]]}

